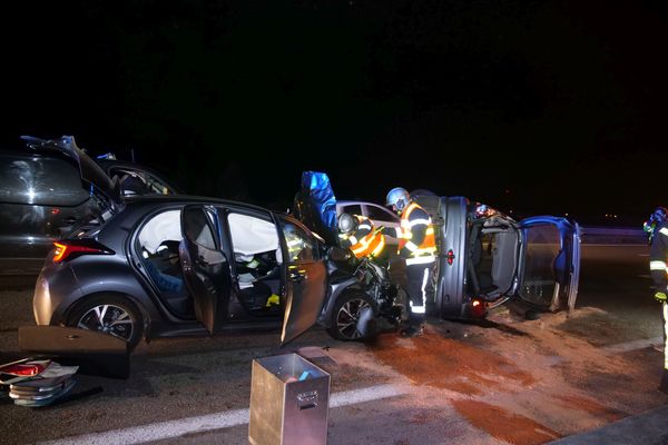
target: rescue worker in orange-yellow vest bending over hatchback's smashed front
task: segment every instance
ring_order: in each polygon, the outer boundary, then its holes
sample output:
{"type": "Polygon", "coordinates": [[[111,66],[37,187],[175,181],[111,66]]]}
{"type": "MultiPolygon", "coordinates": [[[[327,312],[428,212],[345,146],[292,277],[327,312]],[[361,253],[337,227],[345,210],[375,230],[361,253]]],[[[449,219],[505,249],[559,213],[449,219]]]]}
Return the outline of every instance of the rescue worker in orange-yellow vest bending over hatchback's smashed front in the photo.
{"type": "Polygon", "coordinates": [[[342,214],[338,217],[338,239],[357,258],[381,259],[385,247],[382,228],[376,230],[373,221],[365,216],[342,214]]]}

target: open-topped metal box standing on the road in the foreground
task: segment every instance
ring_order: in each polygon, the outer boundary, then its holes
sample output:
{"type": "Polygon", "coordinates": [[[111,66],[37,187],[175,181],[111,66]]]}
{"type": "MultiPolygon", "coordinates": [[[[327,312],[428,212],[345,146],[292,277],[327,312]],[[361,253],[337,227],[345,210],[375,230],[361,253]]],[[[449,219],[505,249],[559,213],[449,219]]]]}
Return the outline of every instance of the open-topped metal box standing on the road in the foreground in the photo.
{"type": "Polygon", "coordinates": [[[327,443],[330,374],[297,354],[253,360],[252,445],[327,443]]]}

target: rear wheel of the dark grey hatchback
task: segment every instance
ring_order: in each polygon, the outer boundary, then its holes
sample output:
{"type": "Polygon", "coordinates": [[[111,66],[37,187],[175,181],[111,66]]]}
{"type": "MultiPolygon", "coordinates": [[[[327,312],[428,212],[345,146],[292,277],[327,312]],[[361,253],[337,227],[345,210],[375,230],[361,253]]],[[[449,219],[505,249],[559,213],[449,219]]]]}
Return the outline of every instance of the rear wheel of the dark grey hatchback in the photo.
{"type": "Polygon", "coordinates": [[[98,295],[87,299],[69,314],[66,324],[121,338],[128,342],[130,350],[135,349],[144,334],[141,313],[132,301],[118,295],[98,295]]]}

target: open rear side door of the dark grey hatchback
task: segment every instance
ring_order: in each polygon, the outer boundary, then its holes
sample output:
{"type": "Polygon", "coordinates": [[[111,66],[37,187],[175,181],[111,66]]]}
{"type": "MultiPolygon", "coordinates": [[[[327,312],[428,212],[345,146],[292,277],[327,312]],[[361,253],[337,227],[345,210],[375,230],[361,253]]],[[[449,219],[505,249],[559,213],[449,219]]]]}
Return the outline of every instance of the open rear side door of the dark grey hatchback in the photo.
{"type": "Polygon", "coordinates": [[[232,289],[229,263],[220,249],[217,220],[214,207],[186,206],[180,220],[184,239],[178,248],[195,316],[212,334],[219,330],[225,319],[232,289]]]}

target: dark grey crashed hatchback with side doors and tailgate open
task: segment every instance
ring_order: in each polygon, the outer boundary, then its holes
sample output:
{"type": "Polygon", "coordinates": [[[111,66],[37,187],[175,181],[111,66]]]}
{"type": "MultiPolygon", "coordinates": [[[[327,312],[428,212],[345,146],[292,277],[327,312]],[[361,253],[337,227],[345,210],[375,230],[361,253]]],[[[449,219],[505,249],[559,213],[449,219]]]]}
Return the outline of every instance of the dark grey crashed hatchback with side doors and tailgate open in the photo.
{"type": "Polygon", "coordinates": [[[281,325],[286,343],[316,322],[335,338],[360,339],[371,318],[400,316],[381,268],[348,268],[343,249],[289,215],[205,197],[122,197],[88,157],[78,159],[100,207],[47,257],[33,296],[38,325],[102,330],[134,347],[143,337],[281,325]]]}

